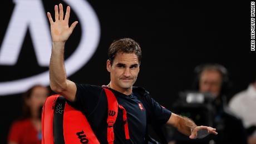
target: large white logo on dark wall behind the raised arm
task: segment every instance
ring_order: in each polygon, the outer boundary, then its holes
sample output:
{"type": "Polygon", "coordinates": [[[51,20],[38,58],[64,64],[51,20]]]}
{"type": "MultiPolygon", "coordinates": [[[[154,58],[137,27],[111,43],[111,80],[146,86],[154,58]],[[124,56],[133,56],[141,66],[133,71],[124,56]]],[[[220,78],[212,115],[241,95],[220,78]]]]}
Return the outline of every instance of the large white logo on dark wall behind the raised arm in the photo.
{"type": "MultiPolygon", "coordinates": [[[[63,0],[72,8],[81,25],[81,40],[76,51],[65,61],[67,76],[78,71],[96,51],[100,40],[100,24],[95,11],[85,0],[63,0]]],[[[0,64],[17,63],[27,29],[31,34],[38,65],[48,66],[51,55],[51,35],[41,0],[15,0],[15,7],[2,46],[0,64]]],[[[18,71],[18,69],[17,69],[18,71]]],[[[14,81],[0,82],[0,95],[26,91],[35,84],[49,85],[49,71],[14,81]]]]}

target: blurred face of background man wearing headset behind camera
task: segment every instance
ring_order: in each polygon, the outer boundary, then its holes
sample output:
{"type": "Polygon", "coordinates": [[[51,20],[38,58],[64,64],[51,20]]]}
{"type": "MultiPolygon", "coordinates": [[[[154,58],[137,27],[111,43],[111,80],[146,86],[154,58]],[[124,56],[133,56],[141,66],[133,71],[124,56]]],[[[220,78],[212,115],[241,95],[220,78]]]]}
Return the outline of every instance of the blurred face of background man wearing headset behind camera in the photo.
{"type": "Polygon", "coordinates": [[[222,76],[219,71],[205,70],[201,73],[199,80],[199,91],[209,92],[215,97],[221,91],[222,76]]]}

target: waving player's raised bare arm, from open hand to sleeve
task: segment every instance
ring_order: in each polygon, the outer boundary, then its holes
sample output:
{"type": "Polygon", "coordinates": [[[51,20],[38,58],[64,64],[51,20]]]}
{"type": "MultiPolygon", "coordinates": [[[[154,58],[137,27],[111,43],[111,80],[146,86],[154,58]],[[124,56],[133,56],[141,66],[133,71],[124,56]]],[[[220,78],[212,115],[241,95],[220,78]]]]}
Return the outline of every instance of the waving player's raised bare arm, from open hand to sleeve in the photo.
{"type": "Polygon", "coordinates": [[[67,98],[69,101],[75,100],[76,85],[74,82],[67,80],[65,65],[64,65],[64,47],[65,43],[70,37],[73,29],[78,23],[73,22],[71,26],[68,26],[68,19],[70,17],[70,7],[67,7],[65,19],[63,19],[63,6],[59,4],[60,13],[58,12],[58,6],[55,6],[55,22],[48,12],[47,16],[51,24],[52,35],[52,54],[50,61],[50,86],[51,89],[60,95],[67,98]]]}

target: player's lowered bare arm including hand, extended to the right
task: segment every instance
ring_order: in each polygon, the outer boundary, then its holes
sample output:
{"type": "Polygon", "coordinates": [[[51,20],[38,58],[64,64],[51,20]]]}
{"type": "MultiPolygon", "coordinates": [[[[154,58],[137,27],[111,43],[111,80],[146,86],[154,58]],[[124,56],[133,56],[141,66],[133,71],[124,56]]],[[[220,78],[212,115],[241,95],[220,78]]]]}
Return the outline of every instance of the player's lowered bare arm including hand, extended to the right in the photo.
{"type": "Polygon", "coordinates": [[[188,117],[179,116],[175,113],[171,113],[171,117],[169,118],[167,124],[176,127],[179,132],[189,136],[189,138],[192,139],[203,138],[208,136],[210,133],[215,135],[218,134],[215,132],[215,128],[207,126],[196,126],[195,123],[188,117]]]}

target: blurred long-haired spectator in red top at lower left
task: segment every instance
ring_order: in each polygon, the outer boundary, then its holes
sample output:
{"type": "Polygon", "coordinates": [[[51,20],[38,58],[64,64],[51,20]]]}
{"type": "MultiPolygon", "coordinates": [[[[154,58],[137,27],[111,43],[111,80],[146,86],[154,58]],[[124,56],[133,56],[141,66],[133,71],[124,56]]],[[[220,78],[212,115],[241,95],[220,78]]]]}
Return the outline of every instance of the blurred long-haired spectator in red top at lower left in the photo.
{"type": "Polygon", "coordinates": [[[41,144],[41,110],[49,89],[36,85],[23,94],[22,116],[12,123],[8,144],[41,144]]]}

